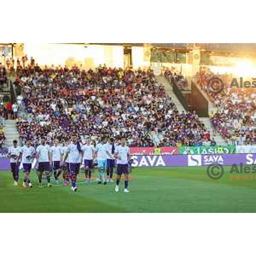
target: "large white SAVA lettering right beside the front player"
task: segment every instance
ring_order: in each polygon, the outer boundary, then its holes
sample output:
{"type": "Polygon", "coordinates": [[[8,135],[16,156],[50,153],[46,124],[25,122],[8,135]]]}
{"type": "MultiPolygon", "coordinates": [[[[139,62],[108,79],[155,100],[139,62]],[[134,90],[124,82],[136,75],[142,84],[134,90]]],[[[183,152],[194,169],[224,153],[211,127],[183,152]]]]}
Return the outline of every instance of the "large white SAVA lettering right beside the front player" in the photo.
{"type": "Polygon", "coordinates": [[[161,156],[133,156],[132,166],[166,166],[163,157],[161,156]]]}

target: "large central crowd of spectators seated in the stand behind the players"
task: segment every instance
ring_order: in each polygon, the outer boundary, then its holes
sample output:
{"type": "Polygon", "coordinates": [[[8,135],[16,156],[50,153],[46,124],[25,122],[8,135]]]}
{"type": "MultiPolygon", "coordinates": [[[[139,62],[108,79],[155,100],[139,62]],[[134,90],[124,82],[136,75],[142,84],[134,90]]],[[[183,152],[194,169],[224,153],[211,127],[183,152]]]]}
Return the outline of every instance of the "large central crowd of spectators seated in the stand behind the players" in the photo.
{"type": "Polygon", "coordinates": [[[78,133],[125,137],[130,146],[202,145],[209,134],[195,112],[179,113],[152,70],[122,70],[99,66],[81,70],[76,65],[44,67],[35,62],[17,70],[26,118],[17,118],[20,138],[47,136],[65,140],[78,133]],[[44,78],[44,79],[42,79],[44,78]],[[125,94],[73,94],[64,90],[126,90],[125,94]],[[132,92],[132,93],[131,93],[132,92]]]}

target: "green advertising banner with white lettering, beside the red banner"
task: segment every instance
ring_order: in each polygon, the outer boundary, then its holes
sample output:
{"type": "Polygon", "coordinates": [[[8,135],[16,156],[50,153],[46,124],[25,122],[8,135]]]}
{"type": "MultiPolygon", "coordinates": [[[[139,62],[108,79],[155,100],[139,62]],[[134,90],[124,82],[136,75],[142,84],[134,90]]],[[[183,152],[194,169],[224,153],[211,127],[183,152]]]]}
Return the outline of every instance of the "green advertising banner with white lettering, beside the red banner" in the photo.
{"type": "Polygon", "coordinates": [[[202,146],[179,148],[179,154],[233,154],[236,153],[236,146],[202,146]]]}

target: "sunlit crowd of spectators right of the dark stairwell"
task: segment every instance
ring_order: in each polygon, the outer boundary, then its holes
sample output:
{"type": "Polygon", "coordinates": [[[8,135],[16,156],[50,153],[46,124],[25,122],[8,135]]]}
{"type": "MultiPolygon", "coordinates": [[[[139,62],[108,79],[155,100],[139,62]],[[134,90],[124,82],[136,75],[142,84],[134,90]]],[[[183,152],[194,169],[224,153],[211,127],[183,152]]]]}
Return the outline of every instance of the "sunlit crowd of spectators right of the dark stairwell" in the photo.
{"type": "Polygon", "coordinates": [[[213,129],[219,132],[229,144],[255,144],[256,130],[253,119],[256,113],[256,94],[254,91],[252,93],[248,91],[245,94],[241,89],[234,90],[230,88],[232,75],[214,74],[207,69],[198,72],[196,78],[216,109],[210,115],[213,129]],[[207,81],[212,77],[219,77],[224,82],[221,93],[210,93],[207,89],[207,81]]]}

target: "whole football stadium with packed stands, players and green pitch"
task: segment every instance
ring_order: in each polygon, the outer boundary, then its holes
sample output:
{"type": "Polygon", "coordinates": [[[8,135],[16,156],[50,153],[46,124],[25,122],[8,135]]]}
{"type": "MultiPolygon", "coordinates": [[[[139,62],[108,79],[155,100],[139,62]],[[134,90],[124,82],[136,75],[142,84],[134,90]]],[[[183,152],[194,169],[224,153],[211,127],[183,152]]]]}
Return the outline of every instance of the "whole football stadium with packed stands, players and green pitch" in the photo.
{"type": "Polygon", "coordinates": [[[0,44],[0,212],[256,212],[256,44],[0,44]]]}

